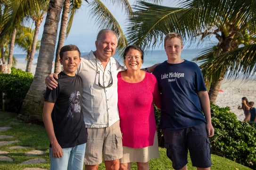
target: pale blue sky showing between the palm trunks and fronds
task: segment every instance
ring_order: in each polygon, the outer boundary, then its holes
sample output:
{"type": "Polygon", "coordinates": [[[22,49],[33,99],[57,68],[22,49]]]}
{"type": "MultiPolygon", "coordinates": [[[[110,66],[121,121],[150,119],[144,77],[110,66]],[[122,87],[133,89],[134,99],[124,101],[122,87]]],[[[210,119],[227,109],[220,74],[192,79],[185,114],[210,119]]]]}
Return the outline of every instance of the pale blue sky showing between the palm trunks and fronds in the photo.
{"type": "MultiPolygon", "coordinates": [[[[89,2],[93,0],[88,0],[89,2]]],[[[134,5],[136,0],[129,0],[131,5],[134,5]]],[[[175,2],[177,0],[163,0],[162,5],[175,7],[175,2]]],[[[122,9],[114,6],[109,0],[102,0],[102,2],[107,6],[107,8],[112,12],[116,17],[117,21],[124,29],[125,22],[127,18],[124,16],[122,9]]],[[[46,17],[46,15],[45,15],[46,17]]],[[[41,40],[42,32],[44,27],[44,21],[42,22],[39,30],[38,40],[41,40]]],[[[90,52],[95,50],[95,40],[97,33],[99,32],[99,27],[95,24],[95,21],[90,16],[88,10],[88,3],[83,0],[82,6],[77,10],[77,13],[74,16],[72,28],[70,33],[65,40],[64,45],[74,44],[76,45],[81,52],[90,52]]],[[[58,40],[57,40],[58,41],[58,40]]],[[[56,45],[57,46],[57,45],[56,45]]],[[[163,49],[159,47],[158,49],[163,49]]],[[[14,53],[25,53],[17,47],[14,50],[14,53]]]]}

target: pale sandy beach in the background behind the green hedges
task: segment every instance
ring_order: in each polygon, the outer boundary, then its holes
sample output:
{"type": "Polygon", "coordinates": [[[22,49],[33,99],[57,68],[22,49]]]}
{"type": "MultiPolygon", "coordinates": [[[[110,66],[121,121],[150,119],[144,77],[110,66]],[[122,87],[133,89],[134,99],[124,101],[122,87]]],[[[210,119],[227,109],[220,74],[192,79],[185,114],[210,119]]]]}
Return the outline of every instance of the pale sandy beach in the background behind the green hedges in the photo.
{"type": "MultiPolygon", "coordinates": [[[[20,68],[25,71],[25,63],[17,63],[16,68],[20,68]]],[[[34,75],[36,65],[32,65],[31,72],[34,75]]],[[[229,106],[231,112],[237,115],[238,120],[243,121],[243,110],[239,110],[237,107],[241,105],[241,98],[247,97],[248,101],[256,103],[256,80],[224,80],[221,85],[221,91],[216,100],[216,105],[220,107],[229,106]]],[[[256,107],[256,104],[255,104],[256,107]]]]}

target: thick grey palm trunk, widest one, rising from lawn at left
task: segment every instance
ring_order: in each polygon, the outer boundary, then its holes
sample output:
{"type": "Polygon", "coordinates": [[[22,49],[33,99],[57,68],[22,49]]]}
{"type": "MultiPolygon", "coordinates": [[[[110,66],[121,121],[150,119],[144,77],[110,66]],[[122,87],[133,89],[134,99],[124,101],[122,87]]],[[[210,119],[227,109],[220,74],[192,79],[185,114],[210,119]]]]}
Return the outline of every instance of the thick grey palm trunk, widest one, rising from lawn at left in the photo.
{"type": "Polygon", "coordinates": [[[49,3],[34,79],[18,115],[18,118],[24,121],[42,121],[41,114],[46,89],[44,80],[52,69],[58,23],[63,3],[64,0],[50,0],[49,3]]]}

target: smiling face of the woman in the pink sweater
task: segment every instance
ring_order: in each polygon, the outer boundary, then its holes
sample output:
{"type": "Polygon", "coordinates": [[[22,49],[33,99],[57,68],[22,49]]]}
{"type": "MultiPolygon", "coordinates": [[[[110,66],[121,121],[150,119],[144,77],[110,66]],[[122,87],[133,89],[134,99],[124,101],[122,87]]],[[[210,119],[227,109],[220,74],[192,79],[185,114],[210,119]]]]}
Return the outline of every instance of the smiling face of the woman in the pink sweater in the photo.
{"type": "Polygon", "coordinates": [[[137,71],[140,70],[140,67],[143,63],[141,58],[141,53],[137,49],[129,49],[124,58],[124,65],[127,70],[137,71]]]}

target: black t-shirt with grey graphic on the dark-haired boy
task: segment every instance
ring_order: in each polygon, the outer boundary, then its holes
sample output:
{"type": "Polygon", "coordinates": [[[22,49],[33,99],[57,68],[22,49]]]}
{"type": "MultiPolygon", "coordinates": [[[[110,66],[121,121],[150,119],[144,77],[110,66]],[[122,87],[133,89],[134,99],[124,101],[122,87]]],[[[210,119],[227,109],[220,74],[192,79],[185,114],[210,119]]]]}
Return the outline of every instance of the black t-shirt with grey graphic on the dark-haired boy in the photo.
{"type": "MultiPolygon", "coordinates": [[[[46,89],[45,101],[55,103],[51,118],[55,136],[62,148],[87,142],[82,112],[82,80],[78,75],[58,74],[58,87],[46,89]]],[[[51,147],[51,146],[50,146],[51,147]]]]}

